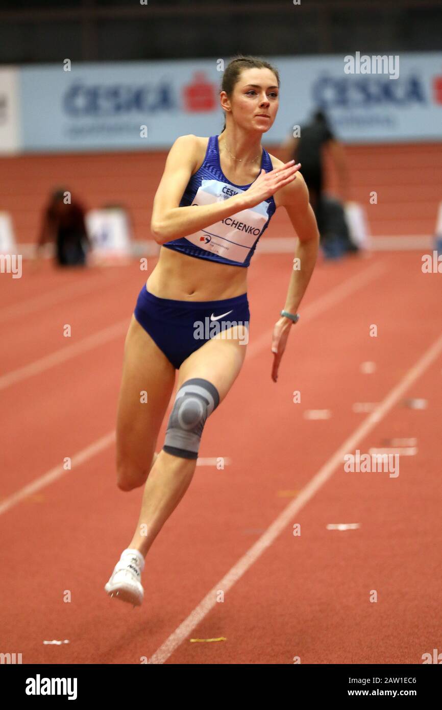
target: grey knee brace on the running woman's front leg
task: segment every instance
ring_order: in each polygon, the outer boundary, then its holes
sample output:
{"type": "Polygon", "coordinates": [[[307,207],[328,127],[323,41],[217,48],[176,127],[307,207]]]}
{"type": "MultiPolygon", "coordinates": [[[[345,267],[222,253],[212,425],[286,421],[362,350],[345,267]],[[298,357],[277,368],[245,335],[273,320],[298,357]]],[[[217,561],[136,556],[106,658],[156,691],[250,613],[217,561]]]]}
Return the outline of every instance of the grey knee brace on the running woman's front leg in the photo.
{"type": "Polygon", "coordinates": [[[204,424],[218,405],[219,393],[211,382],[201,377],[184,382],[167,423],[164,451],[182,459],[197,459],[204,424]]]}

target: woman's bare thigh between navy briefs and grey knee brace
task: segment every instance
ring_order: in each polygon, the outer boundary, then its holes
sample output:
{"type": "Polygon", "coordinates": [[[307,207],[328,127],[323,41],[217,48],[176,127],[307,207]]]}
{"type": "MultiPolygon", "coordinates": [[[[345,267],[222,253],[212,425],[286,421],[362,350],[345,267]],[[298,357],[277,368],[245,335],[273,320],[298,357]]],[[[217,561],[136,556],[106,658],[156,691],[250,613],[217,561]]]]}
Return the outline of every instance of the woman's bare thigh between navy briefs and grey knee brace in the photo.
{"type": "Polygon", "coordinates": [[[246,330],[243,325],[228,329],[189,355],[179,368],[177,389],[190,378],[201,377],[216,387],[221,403],[241,371],[247,348],[246,330]]]}

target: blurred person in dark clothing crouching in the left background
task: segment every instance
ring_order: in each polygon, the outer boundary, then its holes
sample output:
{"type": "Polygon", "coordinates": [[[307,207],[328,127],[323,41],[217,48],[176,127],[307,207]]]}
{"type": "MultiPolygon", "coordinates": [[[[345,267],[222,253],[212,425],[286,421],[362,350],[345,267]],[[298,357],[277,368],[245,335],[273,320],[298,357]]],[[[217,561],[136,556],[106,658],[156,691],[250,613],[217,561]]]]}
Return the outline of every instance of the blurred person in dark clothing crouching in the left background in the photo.
{"type": "Polygon", "coordinates": [[[40,256],[43,244],[51,241],[55,244],[58,266],[86,266],[86,254],[91,244],[84,214],[82,204],[72,200],[69,190],[55,190],[43,213],[37,256],[40,256]]]}

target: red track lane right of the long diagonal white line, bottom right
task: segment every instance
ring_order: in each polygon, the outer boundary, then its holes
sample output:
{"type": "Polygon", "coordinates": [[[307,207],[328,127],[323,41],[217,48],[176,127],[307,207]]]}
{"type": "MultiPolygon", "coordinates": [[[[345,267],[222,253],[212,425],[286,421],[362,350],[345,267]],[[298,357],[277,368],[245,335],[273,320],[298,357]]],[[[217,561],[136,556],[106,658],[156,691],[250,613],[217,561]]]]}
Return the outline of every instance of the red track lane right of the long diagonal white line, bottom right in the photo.
{"type": "MultiPolygon", "coordinates": [[[[438,647],[442,560],[440,471],[435,441],[441,356],[407,391],[424,411],[397,405],[357,448],[414,435],[419,452],[401,457],[399,476],[346,473],[338,466],[308,505],[203,618],[177,650],[153,661],[172,664],[419,664],[438,647]],[[299,523],[301,535],[292,535],[299,523]],[[358,523],[356,530],[327,530],[358,523]],[[377,602],[370,594],[377,592],[377,602]],[[226,637],[226,643],[189,643],[226,637]]],[[[355,420],[358,416],[355,415],[355,420]]],[[[316,422],[315,422],[316,423],[316,422]]],[[[355,452],[353,447],[353,453],[355,452]]],[[[348,449],[351,452],[352,449],[348,449]]],[[[287,488],[299,488],[294,471],[287,488]]],[[[248,528],[267,524],[254,516],[248,528]]],[[[239,533],[239,530],[238,530],[239,533]]],[[[248,535],[250,540],[258,533],[248,535]]]]}

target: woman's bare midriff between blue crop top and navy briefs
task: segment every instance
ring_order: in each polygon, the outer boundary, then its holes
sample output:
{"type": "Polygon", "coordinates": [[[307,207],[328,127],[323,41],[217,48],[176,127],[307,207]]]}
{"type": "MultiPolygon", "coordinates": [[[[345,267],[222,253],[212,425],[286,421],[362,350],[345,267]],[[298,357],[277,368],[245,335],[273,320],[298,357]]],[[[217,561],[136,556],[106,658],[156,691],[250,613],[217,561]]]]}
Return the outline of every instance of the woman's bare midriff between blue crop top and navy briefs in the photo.
{"type": "Polygon", "coordinates": [[[160,257],[148,278],[148,291],[159,298],[215,301],[247,291],[247,268],[160,249],[160,257]]]}

